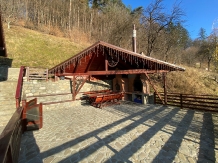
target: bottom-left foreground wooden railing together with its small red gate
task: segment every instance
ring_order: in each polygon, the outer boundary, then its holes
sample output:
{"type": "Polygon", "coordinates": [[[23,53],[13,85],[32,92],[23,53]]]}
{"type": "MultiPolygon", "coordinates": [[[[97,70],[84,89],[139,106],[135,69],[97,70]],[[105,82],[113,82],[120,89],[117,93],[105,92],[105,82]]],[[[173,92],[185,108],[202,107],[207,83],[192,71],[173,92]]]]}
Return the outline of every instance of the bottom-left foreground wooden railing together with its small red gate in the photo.
{"type": "Polygon", "coordinates": [[[42,128],[42,103],[22,101],[0,135],[0,163],[18,162],[22,133],[42,128]]]}

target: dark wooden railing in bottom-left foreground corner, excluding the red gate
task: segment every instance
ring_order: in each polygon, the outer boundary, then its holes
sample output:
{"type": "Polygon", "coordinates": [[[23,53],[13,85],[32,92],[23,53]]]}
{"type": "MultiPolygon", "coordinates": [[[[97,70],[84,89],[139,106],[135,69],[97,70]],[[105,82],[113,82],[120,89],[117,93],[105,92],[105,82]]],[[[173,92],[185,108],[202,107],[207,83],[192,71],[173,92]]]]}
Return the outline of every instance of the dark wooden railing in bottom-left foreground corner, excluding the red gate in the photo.
{"type": "Polygon", "coordinates": [[[18,162],[23,133],[23,108],[19,107],[0,135],[0,163],[18,162]]]}

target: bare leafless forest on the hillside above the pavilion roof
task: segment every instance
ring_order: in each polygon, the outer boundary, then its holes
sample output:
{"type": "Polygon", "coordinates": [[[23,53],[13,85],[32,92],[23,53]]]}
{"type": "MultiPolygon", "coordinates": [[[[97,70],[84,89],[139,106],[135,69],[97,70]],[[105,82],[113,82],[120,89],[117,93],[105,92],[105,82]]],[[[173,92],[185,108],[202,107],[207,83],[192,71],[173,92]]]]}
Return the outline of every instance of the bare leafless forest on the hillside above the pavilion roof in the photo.
{"type": "Polygon", "coordinates": [[[218,68],[217,31],[206,36],[203,28],[192,40],[179,3],[166,12],[164,0],[132,9],[122,0],[0,0],[3,20],[72,41],[105,41],[132,49],[133,24],[137,52],[174,64],[218,68]]]}

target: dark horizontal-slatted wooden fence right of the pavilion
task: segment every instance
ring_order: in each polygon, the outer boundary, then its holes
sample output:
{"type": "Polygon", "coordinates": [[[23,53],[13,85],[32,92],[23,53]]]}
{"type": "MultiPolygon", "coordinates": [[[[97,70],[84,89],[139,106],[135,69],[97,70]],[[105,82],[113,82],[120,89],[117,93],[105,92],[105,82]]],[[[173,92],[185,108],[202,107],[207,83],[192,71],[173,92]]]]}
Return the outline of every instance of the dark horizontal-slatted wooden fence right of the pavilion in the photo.
{"type": "MultiPolygon", "coordinates": [[[[164,96],[163,93],[160,95],[164,96]]],[[[154,94],[154,101],[156,104],[162,104],[156,94],[154,94]]],[[[167,105],[218,112],[218,96],[168,93],[167,105]]]]}

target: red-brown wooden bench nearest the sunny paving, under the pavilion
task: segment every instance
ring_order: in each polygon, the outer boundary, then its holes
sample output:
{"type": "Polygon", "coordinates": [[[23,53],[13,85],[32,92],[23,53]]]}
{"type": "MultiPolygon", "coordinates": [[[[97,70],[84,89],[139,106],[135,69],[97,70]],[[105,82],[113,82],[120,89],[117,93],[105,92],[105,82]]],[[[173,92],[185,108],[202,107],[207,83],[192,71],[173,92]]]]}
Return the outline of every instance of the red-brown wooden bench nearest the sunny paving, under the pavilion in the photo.
{"type": "Polygon", "coordinates": [[[107,105],[112,104],[120,104],[119,100],[121,100],[123,97],[123,93],[108,93],[108,94],[101,94],[101,95],[95,95],[91,96],[91,105],[102,108],[107,105]]]}

